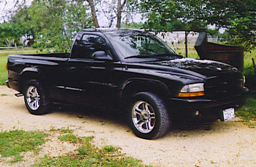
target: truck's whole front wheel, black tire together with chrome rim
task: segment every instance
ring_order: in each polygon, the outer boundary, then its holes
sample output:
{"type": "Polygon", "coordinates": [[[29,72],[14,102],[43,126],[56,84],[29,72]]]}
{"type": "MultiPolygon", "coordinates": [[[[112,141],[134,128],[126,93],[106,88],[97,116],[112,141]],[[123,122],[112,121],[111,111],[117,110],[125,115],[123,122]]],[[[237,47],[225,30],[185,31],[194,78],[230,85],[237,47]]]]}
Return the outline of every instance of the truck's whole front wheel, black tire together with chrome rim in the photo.
{"type": "Polygon", "coordinates": [[[154,139],[161,137],[172,124],[163,100],[150,92],[137,93],[133,98],[128,114],[134,134],[141,138],[154,139]]]}

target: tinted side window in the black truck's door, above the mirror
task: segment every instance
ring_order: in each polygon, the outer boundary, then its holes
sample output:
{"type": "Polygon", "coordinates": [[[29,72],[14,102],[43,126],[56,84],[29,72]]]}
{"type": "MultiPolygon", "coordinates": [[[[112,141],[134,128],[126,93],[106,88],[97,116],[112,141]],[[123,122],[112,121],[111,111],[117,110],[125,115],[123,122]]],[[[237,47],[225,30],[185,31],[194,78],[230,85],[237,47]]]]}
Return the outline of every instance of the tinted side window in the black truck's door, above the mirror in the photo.
{"type": "Polygon", "coordinates": [[[92,59],[93,53],[98,50],[106,50],[105,40],[97,35],[83,34],[75,41],[71,57],[92,59]]]}

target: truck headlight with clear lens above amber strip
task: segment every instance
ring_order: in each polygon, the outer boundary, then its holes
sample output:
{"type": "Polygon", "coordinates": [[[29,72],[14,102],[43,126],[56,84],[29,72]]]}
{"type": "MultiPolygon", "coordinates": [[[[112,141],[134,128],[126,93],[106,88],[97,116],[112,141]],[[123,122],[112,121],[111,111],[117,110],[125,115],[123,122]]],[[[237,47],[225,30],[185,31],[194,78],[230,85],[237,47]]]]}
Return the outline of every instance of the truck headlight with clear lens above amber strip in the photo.
{"type": "Polygon", "coordinates": [[[204,96],[204,83],[185,85],[179,93],[179,97],[204,96]]]}

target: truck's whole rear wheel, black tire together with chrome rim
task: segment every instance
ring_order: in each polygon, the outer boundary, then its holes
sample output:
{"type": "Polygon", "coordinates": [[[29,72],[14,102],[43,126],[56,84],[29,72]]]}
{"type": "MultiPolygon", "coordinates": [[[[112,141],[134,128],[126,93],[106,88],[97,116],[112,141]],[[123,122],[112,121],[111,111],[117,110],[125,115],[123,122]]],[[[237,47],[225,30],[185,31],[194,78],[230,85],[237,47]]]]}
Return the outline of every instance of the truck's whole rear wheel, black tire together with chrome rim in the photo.
{"type": "Polygon", "coordinates": [[[26,82],[23,94],[26,107],[31,114],[42,115],[49,112],[49,99],[36,79],[26,82]]]}

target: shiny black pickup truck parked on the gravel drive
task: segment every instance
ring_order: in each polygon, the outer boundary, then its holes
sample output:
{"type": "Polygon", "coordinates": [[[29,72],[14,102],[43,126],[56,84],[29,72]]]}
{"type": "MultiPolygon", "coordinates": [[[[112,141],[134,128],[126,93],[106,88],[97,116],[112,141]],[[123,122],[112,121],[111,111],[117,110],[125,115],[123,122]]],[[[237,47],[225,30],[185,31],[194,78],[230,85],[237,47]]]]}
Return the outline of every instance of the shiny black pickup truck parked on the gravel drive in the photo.
{"type": "Polygon", "coordinates": [[[176,118],[227,121],[246,92],[237,68],[186,59],[155,35],[129,29],[80,31],[71,53],[9,55],[9,88],[31,114],[52,102],[120,111],[134,133],[160,137],[176,118]]]}

